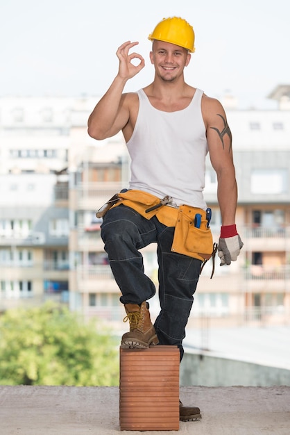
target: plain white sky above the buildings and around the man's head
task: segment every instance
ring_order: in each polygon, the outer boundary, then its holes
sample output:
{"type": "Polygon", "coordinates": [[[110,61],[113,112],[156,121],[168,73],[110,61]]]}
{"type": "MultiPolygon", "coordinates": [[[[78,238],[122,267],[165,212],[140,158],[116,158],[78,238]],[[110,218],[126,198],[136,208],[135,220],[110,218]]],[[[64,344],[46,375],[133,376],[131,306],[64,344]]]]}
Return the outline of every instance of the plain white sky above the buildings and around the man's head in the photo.
{"type": "Polygon", "coordinates": [[[0,97],[101,96],[126,40],[146,60],[126,91],[142,88],[153,80],[148,34],[173,15],[196,33],[187,83],[229,91],[239,108],[276,108],[266,97],[290,83],[288,0],[0,0],[0,97]]]}

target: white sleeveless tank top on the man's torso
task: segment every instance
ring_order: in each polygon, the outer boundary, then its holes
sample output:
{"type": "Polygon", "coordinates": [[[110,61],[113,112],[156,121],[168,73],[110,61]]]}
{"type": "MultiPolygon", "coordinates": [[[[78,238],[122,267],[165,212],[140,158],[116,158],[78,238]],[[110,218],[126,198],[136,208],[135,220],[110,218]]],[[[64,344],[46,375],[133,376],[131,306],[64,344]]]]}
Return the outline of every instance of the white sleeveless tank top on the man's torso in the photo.
{"type": "Polygon", "coordinates": [[[173,203],[205,209],[205,156],[208,152],[201,114],[203,91],[196,89],[187,108],[163,112],[154,108],[144,90],[138,90],[139,112],[127,142],[131,158],[130,189],[173,203]]]}

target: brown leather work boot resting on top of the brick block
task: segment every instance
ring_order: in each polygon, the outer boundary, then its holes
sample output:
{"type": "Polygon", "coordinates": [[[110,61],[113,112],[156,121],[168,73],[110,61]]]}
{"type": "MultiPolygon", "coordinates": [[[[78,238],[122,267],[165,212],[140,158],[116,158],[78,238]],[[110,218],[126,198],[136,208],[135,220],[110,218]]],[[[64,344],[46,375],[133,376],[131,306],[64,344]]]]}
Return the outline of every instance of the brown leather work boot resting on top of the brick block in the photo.
{"type": "Polygon", "coordinates": [[[139,349],[157,345],[159,340],[155,333],[148,311],[148,302],[142,302],[141,306],[137,304],[125,304],[126,317],[124,322],[129,320],[130,332],[123,334],[121,347],[123,349],[137,347],[139,349]]]}

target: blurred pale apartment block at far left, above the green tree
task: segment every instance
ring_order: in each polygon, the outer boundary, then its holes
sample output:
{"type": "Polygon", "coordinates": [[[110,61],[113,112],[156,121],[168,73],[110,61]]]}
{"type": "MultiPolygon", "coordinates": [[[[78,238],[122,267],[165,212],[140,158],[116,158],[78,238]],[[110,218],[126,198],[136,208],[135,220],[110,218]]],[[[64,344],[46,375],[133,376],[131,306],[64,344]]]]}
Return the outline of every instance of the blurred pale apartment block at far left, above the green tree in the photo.
{"type": "Polygon", "coordinates": [[[68,154],[71,118],[84,104],[0,99],[1,311],[46,299],[68,304],[68,154]]]}

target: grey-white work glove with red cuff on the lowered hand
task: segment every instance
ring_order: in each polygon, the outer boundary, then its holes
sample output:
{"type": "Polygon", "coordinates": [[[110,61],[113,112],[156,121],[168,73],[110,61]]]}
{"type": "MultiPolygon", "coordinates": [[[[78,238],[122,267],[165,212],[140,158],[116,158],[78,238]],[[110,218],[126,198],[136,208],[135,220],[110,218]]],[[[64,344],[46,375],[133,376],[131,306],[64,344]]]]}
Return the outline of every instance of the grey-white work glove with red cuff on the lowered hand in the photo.
{"type": "Polygon", "coordinates": [[[221,236],[219,238],[219,258],[221,258],[221,266],[230,265],[231,261],[236,261],[243,247],[244,243],[241,241],[237,233],[236,225],[226,225],[221,227],[221,236]]]}

